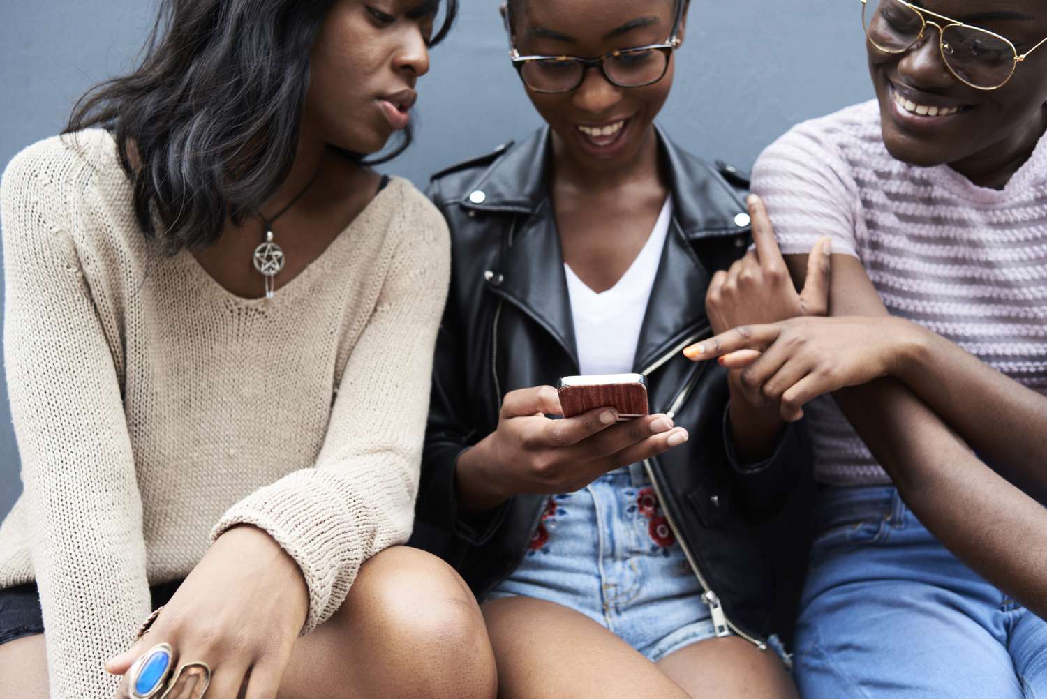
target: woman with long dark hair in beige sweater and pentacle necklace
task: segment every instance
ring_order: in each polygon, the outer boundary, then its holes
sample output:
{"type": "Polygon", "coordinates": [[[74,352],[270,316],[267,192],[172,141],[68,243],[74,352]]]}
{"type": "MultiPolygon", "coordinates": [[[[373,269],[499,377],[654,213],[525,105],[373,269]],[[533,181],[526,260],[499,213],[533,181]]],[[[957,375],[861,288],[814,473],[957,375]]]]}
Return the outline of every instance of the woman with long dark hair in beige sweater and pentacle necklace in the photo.
{"type": "Polygon", "coordinates": [[[394,546],[449,246],[365,155],[440,5],[169,0],[7,167],[0,697],[493,696],[468,589],[394,546]]]}

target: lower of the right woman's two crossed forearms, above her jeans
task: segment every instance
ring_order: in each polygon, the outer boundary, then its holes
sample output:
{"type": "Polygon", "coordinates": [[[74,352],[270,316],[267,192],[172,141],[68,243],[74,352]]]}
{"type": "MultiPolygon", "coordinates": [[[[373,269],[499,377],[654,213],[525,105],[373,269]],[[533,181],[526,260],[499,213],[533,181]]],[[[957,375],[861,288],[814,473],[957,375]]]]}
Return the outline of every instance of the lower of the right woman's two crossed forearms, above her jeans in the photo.
{"type": "Polygon", "coordinates": [[[1047,616],[1047,510],[980,463],[898,382],[884,379],[834,397],[928,529],[976,572],[1047,616]]]}

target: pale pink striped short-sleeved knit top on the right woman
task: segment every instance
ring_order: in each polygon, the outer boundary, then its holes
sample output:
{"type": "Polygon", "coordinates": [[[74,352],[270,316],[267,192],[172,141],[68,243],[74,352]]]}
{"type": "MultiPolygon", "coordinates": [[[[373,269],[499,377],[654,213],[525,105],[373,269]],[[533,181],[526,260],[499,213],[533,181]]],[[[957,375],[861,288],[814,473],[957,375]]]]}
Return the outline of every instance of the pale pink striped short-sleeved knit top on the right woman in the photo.
{"type": "MultiPolygon", "coordinates": [[[[1003,189],[948,165],[895,160],[869,102],[795,127],[760,156],[753,189],[785,254],[823,235],[862,261],[892,315],[957,343],[1047,393],[1047,136],[1003,189]]],[[[805,413],[815,474],[889,483],[829,397],[805,413]]]]}

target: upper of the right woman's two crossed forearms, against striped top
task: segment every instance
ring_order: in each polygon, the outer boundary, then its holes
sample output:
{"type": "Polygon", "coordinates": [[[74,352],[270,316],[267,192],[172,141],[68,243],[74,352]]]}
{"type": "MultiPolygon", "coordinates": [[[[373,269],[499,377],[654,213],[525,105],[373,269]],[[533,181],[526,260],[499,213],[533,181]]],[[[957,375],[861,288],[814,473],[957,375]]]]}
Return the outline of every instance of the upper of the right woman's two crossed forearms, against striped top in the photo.
{"type": "Polygon", "coordinates": [[[895,376],[1005,477],[1047,497],[1047,397],[945,338],[903,321],[895,376]],[[1007,435],[1006,438],[1000,438],[1007,435]]]}

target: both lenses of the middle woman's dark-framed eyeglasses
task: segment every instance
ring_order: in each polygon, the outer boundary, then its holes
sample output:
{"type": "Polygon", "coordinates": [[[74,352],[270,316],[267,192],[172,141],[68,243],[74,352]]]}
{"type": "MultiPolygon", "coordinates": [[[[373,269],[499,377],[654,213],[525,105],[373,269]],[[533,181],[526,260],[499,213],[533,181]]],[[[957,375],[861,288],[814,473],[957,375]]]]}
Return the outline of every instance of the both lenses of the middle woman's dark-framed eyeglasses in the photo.
{"type": "MultiPolygon", "coordinates": [[[[606,57],[603,70],[619,87],[643,87],[662,80],[668,61],[668,51],[640,48],[606,57]]],[[[584,72],[585,66],[571,58],[528,61],[520,68],[524,82],[539,92],[573,90],[581,85],[584,72]]]]}

